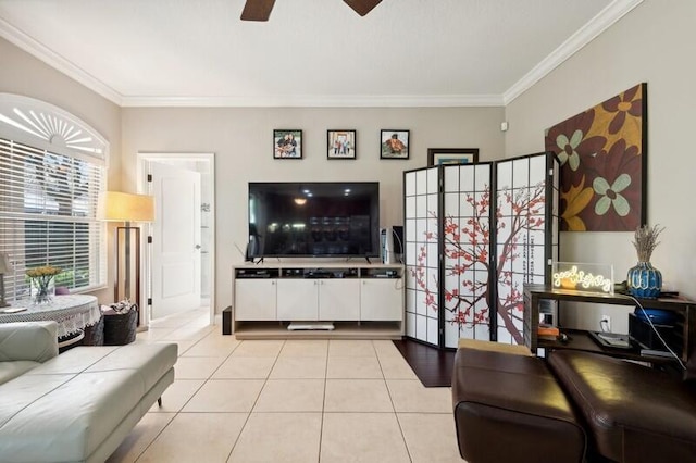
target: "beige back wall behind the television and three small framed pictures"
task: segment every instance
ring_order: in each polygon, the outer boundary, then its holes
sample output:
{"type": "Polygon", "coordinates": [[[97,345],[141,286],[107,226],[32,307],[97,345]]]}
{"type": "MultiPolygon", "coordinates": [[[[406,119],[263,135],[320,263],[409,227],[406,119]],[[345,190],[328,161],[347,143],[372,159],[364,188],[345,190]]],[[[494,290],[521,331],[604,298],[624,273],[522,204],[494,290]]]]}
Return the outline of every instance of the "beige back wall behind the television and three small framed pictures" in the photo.
{"type": "Polygon", "coordinates": [[[504,157],[502,108],[124,108],[123,182],[137,184],[137,153],[215,153],[216,311],[232,302],[235,248],[247,242],[247,183],[377,180],[381,225],[403,221],[402,173],[427,164],[427,148],[480,148],[504,157]],[[273,159],[273,129],[302,129],[302,160],[273,159]],[[355,161],[326,159],[327,129],[356,129],[355,161]],[[408,161],[380,160],[380,129],[410,129],[408,161]]]}

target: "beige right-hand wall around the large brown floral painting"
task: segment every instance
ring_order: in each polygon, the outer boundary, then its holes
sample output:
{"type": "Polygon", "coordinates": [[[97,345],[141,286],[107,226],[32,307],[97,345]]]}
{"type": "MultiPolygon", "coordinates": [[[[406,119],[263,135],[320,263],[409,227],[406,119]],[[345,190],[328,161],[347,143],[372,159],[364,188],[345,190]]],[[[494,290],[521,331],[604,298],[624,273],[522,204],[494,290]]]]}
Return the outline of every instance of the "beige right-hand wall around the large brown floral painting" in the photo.
{"type": "MultiPolygon", "coordinates": [[[[544,149],[544,129],[638,83],[648,84],[648,223],[667,229],[652,263],[696,298],[696,2],[645,0],[506,108],[506,155],[544,149]]],[[[617,279],[635,264],[631,233],[563,233],[561,258],[606,262],[617,279]]],[[[614,324],[616,325],[616,324],[614,324]]],[[[597,326],[594,326],[597,328],[597,326]]],[[[625,331],[624,331],[625,333],[625,331]]]]}

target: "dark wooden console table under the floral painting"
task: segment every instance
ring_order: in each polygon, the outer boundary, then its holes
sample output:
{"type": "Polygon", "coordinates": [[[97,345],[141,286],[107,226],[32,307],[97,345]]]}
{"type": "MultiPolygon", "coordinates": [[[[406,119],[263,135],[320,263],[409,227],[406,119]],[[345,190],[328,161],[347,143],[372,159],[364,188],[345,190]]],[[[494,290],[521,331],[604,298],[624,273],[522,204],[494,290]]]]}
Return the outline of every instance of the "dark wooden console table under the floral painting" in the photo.
{"type": "MultiPolygon", "coordinates": [[[[524,345],[529,347],[532,352],[536,352],[537,348],[576,349],[591,352],[601,352],[608,355],[642,360],[646,362],[664,362],[666,360],[669,360],[652,355],[641,355],[638,350],[602,348],[591,338],[588,331],[577,329],[562,329],[562,333],[568,334],[570,337],[568,342],[564,343],[560,341],[537,339],[536,331],[539,324],[539,304],[542,300],[636,306],[635,301],[631,297],[624,295],[611,296],[552,289],[550,286],[545,285],[524,285],[524,345]]],[[[696,302],[680,298],[637,300],[645,309],[661,309],[676,313],[679,322],[675,324],[674,329],[682,329],[681,337],[683,339],[683,343],[681,349],[681,359],[686,362],[694,348],[694,339],[696,339],[696,302]]]]}

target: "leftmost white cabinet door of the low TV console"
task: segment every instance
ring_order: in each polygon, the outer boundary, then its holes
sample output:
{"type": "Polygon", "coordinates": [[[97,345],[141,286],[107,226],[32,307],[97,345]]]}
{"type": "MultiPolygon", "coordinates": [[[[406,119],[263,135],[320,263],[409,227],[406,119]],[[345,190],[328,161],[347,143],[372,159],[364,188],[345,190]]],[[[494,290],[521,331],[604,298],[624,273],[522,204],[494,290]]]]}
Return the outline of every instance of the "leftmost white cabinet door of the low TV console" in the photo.
{"type": "Polygon", "coordinates": [[[235,280],[235,320],[276,320],[275,304],[275,278],[235,280]]]}

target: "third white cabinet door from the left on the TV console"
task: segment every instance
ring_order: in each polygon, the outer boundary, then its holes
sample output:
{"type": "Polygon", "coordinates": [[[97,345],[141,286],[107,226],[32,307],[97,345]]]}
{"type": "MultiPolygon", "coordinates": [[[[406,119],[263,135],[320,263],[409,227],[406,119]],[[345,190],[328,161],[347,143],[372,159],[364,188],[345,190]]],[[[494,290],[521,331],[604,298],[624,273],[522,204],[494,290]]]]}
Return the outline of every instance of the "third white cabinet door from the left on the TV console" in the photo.
{"type": "Polygon", "coordinates": [[[358,279],[319,280],[319,320],[322,322],[360,320],[358,279]]]}

